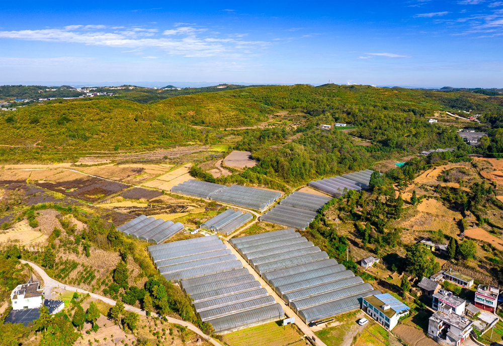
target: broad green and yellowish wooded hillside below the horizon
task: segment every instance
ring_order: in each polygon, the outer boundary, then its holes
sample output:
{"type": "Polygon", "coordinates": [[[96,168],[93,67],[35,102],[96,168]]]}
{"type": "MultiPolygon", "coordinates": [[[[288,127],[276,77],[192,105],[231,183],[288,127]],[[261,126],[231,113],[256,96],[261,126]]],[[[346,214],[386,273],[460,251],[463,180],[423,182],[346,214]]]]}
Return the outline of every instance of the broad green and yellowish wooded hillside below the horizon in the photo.
{"type": "MultiPolygon", "coordinates": [[[[203,126],[213,130],[234,128],[234,134],[243,136],[238,147],[257,151],[255,156],[264,160],[267,153],[261,150],[269,150],[278,140],[283,144],[291,142],[288,138],[303,133],[289,146],[282,147],[280,156],[301,157],[300,150],[310,161],[307,166],[318,167],[320,164],[313,161],[311,151],[322,150],[328,158],[323,159],[326,163],[321,166],[330,167],[333,162],[346,159],[349,163],[345,167],[357,168],[361,165],[350,162],[367,161],[366,153],[383,158],[384,154],[397,150],[417,152],[460,144],[456,128],[427,122],[438,111],[481,112],[482,123],[473,125],[481,130],[499,127],[503,123],[501,98],[468,92],[326,84],[241,88],[178,96],[149,105],[114,97],[54,100],[0,112],[3,128],[0,156],[4,161],[18,162],[50,161],[56,157],[72,160],[83,151],[150,150],[188,142],[207,143],[208,137],[203,132],[208,130],[199,128],[203,126]],[[288,131],[281,125],[286,126],[285,122],[265,131],[237,130],[265,122],[279,111],[300,114],[297,118],[303,125],[288,131]],[[371,145],[351,149],[351,136],[335,134],[335,130],[329,132],[326,140],[318,138],[320,133],[314,134],[319,124],[333,122],[355,126],[352,135],[370,141],[371,145]],[[345,158],[346,153],[354,150],[364,152],[357,158],[345,158]]],[[[491,132],[490,137],[497,145],[489,148],[498,150],[501,146],[498,136],[491,132]]],[[[270,160],[264,168],[275,165],[281,166],[281,160],[270,160]]]]}

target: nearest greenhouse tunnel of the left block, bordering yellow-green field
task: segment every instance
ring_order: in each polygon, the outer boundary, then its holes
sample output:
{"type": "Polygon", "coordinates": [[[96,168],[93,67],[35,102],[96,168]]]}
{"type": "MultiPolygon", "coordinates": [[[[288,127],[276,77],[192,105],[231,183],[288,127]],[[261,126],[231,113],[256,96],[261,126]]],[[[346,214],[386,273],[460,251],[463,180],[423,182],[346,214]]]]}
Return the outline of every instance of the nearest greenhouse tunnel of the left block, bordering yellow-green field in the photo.
{"type": "Polygon", "coordinates": [[[233,315],[218,317],[209,322],[215,332],[221,333],[242,327],[261,324],[267,321],[281,319],[285,312],[280,304],[268,305],[261,308],[239,312],[233,315]]]}

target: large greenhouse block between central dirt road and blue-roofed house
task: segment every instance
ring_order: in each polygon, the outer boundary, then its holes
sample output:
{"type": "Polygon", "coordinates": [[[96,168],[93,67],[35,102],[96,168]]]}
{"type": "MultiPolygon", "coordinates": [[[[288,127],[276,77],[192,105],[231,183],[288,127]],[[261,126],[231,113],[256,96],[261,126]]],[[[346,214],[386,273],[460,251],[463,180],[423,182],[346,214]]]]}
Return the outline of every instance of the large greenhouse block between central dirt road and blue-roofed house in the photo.
{"type": "Polygon", "coordinates": [[[363,297],[380,293],[294,229],[229,242],[306,323],[359,309],[363,297]]]}

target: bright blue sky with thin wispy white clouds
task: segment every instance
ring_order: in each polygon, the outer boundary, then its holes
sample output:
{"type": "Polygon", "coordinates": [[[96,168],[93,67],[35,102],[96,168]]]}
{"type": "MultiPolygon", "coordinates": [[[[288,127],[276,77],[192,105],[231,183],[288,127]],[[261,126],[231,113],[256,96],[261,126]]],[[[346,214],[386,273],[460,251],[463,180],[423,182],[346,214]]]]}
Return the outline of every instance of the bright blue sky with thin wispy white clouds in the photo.
{"type": "Polygon", "coordinates": [[[0,84],[503,88],[503,1],[4,2],[0,84]]]}

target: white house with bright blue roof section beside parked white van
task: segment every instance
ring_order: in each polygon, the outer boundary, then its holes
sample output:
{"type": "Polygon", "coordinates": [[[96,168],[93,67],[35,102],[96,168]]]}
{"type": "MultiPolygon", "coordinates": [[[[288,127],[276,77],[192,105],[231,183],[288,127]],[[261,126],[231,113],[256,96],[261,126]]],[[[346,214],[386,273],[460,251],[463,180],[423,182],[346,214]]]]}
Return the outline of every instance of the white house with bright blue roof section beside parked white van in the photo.
{"type": "Polygon", "coordinates": [[[378,321],[386,330],[393,329],[400,317],[408,314],[410,308],[389,293],[363,298],[362,310],[378,321]]]}

